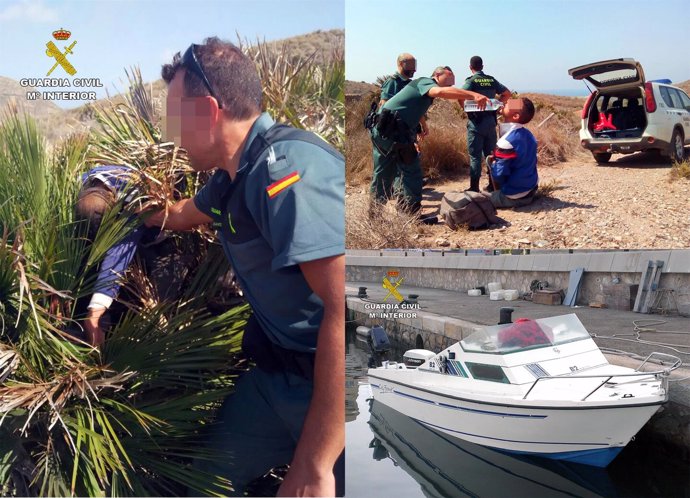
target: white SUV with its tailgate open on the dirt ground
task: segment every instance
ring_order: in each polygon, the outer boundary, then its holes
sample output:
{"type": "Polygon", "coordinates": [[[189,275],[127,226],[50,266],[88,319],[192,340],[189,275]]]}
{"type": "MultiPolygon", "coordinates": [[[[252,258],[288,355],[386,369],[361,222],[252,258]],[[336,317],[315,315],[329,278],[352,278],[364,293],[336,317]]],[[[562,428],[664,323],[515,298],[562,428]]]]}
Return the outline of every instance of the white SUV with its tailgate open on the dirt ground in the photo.
{"type": "Polygon", "coordinates": [[[582,109],[580,144],[604,164],[611,154],[657,150],[680,162],[690,144],[690,97],[669,80],[647,81],[639,62],[612,59],[568,70],[595,90],[582,109]]]}

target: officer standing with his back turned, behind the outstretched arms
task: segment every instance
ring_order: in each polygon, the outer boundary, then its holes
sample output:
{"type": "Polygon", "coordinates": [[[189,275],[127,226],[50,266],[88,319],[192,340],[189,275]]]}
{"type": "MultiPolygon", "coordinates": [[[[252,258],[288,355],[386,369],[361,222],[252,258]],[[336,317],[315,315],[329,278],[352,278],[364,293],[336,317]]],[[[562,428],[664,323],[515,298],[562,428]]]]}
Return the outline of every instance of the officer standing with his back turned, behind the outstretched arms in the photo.
{"type": "MultiPolygon", "coordinates": [[[[484,74],[484,62],[478,55],[470,59],[472,76],[465,79],[464,90],[480,93],[490,99],[496,97],[504,104],[510,98],[510,90],[493,76],[484,74]]],[[[470,155],[470,188],[479,192],[479,178],[482,175],[482,154],[489,156],[496,147],[496,111],[467,113],[467,151],[470,155]]],[[[493,190],[491,183],[487,187],[493,190]]]]}

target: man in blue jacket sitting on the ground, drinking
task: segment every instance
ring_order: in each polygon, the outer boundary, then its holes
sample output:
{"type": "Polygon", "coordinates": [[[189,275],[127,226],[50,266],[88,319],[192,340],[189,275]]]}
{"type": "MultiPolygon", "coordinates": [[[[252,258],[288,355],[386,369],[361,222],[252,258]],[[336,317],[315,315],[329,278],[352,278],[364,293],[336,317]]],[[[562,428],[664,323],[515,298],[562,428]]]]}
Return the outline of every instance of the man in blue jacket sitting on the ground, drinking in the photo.
{"type": "Polygon", "coordinates": [[[505,124],[493,156],[491,167],[494,192],[491,203],[497,208],[526,206],[534,200],[537,175],[537,140],[523,125],[534,117],[534,104],[527,98],[509,99],[501,111],[505,124]]]}

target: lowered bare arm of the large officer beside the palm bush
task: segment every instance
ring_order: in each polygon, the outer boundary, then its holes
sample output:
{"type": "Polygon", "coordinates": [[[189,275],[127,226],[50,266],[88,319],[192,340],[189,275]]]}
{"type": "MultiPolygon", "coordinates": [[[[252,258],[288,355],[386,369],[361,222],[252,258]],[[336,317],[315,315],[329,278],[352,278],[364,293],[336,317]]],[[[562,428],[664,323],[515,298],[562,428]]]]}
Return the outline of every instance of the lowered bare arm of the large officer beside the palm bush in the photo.
{"type": "Polygon", "coordinates": [[[345,256],[300,269],[324,304],[314,365],[314,391],[279,496],[334,496],[333,465],[345,447],[345,256]]]}

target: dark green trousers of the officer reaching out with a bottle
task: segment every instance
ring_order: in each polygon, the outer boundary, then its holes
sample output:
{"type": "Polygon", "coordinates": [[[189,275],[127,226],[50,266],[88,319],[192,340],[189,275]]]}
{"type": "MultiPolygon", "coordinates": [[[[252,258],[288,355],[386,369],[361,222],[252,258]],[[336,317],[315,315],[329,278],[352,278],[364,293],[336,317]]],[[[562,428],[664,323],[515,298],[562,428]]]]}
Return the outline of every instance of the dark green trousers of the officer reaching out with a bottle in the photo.
{"type": "Polygon", "coordinates": [[[384,139],[375,128],[371,131],[374,149],[374,172],[369,191],[379,202],[386,202],[395,194],[401,194],[402,200],[412,211],[418,211],[422,204],[422,165],[417,155],[414,160],[405,164],[398,153],[393,150],[394,142],[384,139]],[[400,173],[400,192],[395,192],[394,182],[400,173]]]}

